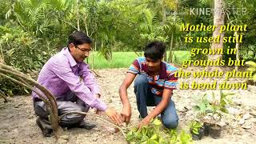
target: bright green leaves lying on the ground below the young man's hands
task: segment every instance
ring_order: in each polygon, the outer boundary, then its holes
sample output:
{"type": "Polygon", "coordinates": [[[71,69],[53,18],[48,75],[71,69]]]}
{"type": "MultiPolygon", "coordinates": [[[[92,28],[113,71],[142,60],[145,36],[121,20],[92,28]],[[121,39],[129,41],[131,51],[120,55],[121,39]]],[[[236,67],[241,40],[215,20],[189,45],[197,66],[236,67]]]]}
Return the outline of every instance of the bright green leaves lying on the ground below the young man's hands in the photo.
{"type": "Polygon", "coordinates": [[[157,118],[148,126],[143,126],[138,130],[137,127],[132,128],[126,134],[126,140],[130,143],[145,144],[167,144],[167,143],[190,143],[192,138],[190,134],[186,134],[184,130],[180,134],[177,130],[162,130],[162,122],[157,118]]]}

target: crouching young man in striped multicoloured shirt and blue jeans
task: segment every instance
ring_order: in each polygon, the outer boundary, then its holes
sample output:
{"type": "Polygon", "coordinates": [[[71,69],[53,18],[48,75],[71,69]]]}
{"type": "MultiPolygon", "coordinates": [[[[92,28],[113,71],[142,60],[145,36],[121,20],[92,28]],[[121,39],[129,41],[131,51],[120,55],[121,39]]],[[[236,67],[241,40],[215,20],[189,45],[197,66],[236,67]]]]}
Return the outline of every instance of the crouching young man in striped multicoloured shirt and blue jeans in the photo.
{"type": "Polygon", "coordinates": [[[131,106],[127,96],[127,88],[134,81],[134,93],[136,95],[140,118],[139,127],[148,125],[152,118],[161,114],[162,123],[167,128],[178,126],[178,115],[171,100],[173,90],[176,89],[177,78],[174,73],[176,67],[163,62],[163,54],[166,45],[162,42],[150,42],[144,50],[145,57],[134,60],[127,71],[126,78],[119,88],[119,95],[123,104],[122,118],[124,122],[130,122],[131,106]],[[156,106],[148,114],[147,106],[156,106]]]}

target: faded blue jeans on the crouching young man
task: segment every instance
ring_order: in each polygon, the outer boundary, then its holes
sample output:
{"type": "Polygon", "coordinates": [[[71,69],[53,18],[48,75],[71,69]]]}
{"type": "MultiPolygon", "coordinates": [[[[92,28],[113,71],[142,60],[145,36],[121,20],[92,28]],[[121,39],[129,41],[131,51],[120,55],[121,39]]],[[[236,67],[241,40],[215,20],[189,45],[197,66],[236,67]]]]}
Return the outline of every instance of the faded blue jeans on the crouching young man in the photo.
{"type": "MultiPolygon", "coordinates": [[[[146,75],[138,74],[134,82],[134,93],[136,94],[138,112],[142,118],[147,116],[146,106],[157,106],[162,97],[152,94],[146,75]]],[[[166,128],[176,128],[178,126],[178,115],[175,109],[174,101],[170,102],[161,113],[162,123],[166,128]]]]}

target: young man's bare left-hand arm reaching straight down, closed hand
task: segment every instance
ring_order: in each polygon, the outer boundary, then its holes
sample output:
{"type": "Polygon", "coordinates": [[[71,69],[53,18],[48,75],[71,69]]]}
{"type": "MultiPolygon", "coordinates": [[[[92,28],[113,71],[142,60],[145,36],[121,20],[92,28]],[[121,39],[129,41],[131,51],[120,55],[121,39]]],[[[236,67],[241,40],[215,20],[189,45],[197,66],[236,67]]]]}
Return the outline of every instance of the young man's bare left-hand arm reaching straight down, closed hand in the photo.
{"type": "Polygon", "coordinates": [[[122,82],[122,85],[119,88],[119,96],[122,101],[122,118],[124,122],[130,122],[130,116],[131,116],[131,106],[128,99],[127,89],[130,86],[131,82],[134,81],[134,78],[136,77],[136,74],[127,73],[126,78],[122,82]]]}

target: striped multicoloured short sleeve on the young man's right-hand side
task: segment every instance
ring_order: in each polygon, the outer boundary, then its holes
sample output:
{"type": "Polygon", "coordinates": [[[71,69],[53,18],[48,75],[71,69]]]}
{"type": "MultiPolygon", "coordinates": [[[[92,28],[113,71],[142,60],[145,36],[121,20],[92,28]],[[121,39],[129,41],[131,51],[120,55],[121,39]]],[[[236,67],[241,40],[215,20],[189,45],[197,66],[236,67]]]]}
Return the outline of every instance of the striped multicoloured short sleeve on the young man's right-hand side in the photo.
{"type": "Polygon", "coordinates": [[[164,83],[164,88],[168,90],[176,90],[178,84],[178,78],[174,77],[177,68],[174,66],[167,66],[167,77],[164,83]]]}

